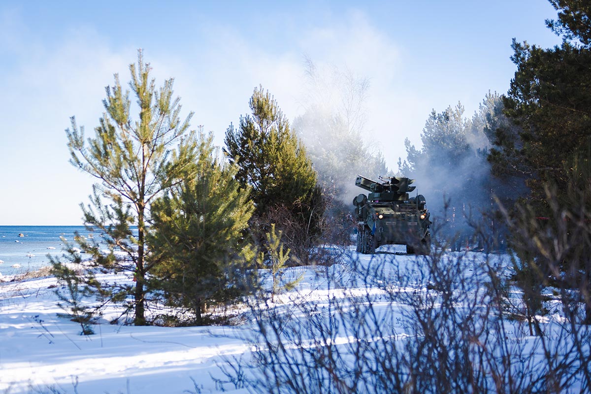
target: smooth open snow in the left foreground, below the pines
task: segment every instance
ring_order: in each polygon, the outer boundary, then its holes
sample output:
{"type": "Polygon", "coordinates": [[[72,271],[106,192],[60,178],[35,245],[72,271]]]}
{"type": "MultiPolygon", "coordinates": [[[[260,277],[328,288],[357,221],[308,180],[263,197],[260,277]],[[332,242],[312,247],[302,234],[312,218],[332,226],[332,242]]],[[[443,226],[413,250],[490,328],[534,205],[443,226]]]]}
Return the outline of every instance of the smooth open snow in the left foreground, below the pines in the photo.
{"type": "Polygon", "coordinates": [[[225,327],[132,327],[96,325],[80,336],[80,325],[57,313],[43,278],[0,285],[0,392],[181,393],[193,383],[215,390],[220,354],[241,353],[241,343],[212,334],[225,327]]]}

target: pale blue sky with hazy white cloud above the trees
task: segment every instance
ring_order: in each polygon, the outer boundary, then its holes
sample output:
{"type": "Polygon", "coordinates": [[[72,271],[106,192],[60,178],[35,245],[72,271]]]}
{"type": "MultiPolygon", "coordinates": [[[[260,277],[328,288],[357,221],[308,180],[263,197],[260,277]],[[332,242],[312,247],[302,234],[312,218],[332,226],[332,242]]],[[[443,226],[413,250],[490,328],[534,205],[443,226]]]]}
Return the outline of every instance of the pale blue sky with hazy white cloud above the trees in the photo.
{"type": "Polygon", "coordinates": [[[512,37],[560,43],[555,17],[545,0],[1,1],[0,225],[82,224],[93,180],[69,164],[64,129],[75,115],[92,132],[138,48],[218,145],[259,84],[300,114],[304,56],[366,77],[368,135],[395,169],[431,109],[471,116],[506,93],[512,37]]]}

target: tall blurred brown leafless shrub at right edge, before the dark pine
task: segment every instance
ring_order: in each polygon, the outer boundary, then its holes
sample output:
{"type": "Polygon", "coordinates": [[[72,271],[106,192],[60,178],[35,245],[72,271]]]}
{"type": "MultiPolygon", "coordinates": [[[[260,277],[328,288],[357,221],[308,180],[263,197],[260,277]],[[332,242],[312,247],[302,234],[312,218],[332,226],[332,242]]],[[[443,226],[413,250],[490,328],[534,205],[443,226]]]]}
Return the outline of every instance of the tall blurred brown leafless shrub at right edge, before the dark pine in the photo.
{"type": "Polygon", "coordinates": [[[587,185],[561,196],[547,187],[549,217],[526,204],[513,214],[503,211],[514,250],[514,283],[522,294],[510,305],[521,308],[530,334],[540,337],[545,363],[552,367],[548,380],[554,387],[563,380],[577,382],[582,391],[591,389],[590,192],[587,185]],[[556,370],[563,376],[554,376],[556,370]]]}

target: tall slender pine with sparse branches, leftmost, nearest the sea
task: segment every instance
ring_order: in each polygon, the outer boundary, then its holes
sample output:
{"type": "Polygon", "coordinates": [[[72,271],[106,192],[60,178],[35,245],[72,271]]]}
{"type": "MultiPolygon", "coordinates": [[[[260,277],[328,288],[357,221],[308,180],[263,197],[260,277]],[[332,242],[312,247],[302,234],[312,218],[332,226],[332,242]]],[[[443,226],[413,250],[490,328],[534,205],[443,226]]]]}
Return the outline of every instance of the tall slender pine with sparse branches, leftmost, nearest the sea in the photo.
{"type": "Polygon", "coordinates": [[[92,254],[92,263],[114,272],[134,272],[134,285],[91,281],[100,297],[127,302],[134,323],[144,325],[146,279],[153,266],[147,262],[146,235],[150,203],[180,181],[194,161],[193,138],[184,138],[192,113],[181,121],[179,99],[173,97],[173,79],[156,89],[150,64],[138,51],[138,65],[131,64],[132,94],[137,99],[138,118],[131,116],[129,91],[119,76],[106,88],[105,113],[94,138],[85,141],[84,128],[72,118],[67,129],[72,164],[98,180],[90,204],[81,204],[89,230],[102,236],[103,245],[79,237],[81,248],[92,254]],[[135,227],[132,227],[135,226],[135,227]],[[109,253],[105,255],[102,249],[109,253]],[[125,258],[122,258],[124,255],[125,258]],[[128,302],[128,295],[133,301],[128,302]]]}

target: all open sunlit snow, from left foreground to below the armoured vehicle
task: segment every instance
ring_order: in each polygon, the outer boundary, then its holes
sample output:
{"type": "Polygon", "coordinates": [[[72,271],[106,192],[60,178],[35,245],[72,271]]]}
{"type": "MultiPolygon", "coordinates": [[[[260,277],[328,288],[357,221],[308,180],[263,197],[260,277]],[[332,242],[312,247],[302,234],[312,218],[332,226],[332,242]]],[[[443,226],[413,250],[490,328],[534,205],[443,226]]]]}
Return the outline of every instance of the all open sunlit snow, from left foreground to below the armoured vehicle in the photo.
{"type": "MultiPolygon", "coordinates": [[[[387,250],[398,266],[412,269],[416,263],[417,257],[401,253],[400,247],[380,250],[387,250]]],[[[497,259],[500,262],[502,258],[497,259]]],[[[289,308],[293,299],[302,297],[311,304],[324,305],[335,295],[352,297],[356,292],[374,292],[379,304],[380,290],[368,289],[368,281],[356,281],[350,267],[352,261],[368,265],[372,259],[349,252],[343,263],[330,268],[288,269],[284,279],[301,275],[302,280],[296,289],[282,293],[277,305],[289,308]],[[355,289],[357,283],[359,288],[355,289]]],[[[482,253],[470,253],[470,259],[478,264],[485,258],[482,253]]],[[[93,325],[95,335],[80,336],[79,324],[57,317],[63,310],[56,305],[56,285],[51,277],[0,283],[0,393],[219,392],[222,388],[213,379],[224,377],[219,365],[249,350],[248,342],[241,338],[254,337],[255,325],[248,322],[170,328],[111,325],[104,319],[93,325]]],[[[106,317],[116,313],[115,309],[106,311],[106,317]]],[[[224,389],[248,392],[231,385],[224,389]]]]}

